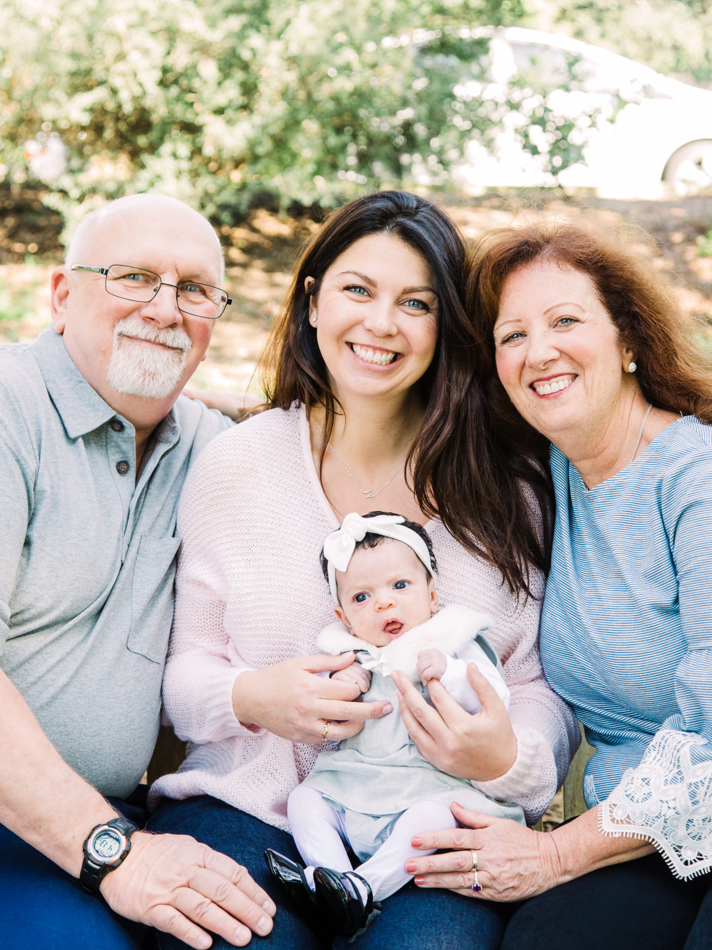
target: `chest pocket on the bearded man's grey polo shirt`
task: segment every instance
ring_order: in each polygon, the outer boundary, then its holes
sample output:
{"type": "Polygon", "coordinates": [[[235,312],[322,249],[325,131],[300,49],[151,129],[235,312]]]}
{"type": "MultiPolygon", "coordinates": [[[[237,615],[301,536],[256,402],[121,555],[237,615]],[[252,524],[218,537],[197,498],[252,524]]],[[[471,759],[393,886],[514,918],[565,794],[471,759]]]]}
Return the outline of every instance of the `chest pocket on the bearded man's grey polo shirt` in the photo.
{"type": "Polygon", "coordinates": [[[168,652],[179,546],[179,538],[141,535],[136,551],[126,646],[154,663],[162,663],[168,652]]]}

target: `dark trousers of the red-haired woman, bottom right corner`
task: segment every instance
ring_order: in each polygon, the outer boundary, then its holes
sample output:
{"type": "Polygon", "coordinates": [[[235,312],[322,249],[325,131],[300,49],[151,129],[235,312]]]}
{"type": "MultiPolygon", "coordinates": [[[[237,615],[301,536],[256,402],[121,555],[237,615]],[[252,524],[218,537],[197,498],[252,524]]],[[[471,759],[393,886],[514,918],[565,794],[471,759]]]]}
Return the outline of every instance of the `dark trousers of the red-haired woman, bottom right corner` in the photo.
{"type": "Polygon", "coordinates": [[[709,950],[712,874],[673,877],[659,854],[612,864],[522,903],[502,950],[709,950]]]}

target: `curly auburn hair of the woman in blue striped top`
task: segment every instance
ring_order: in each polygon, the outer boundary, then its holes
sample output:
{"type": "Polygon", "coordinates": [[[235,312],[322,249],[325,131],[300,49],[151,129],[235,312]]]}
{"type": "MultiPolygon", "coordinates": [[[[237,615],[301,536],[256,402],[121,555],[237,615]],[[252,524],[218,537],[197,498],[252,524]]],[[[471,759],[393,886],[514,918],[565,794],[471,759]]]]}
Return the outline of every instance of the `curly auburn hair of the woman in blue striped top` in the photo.
{"type": "Polygon", "coordinates": [[[636,379],[649,403],[712,423],[712,358],[696,339],[700,326],[681,312],[663,277],[634,248],[608,233],[581,224],[542,222],[480,237],[467,283],[468,309],[478,326],[482,384],[502,438],[533,437],[497,378],[493,333],[505,281],[534,261],[590,277],[621,343],[635,353],[636,379]]]}

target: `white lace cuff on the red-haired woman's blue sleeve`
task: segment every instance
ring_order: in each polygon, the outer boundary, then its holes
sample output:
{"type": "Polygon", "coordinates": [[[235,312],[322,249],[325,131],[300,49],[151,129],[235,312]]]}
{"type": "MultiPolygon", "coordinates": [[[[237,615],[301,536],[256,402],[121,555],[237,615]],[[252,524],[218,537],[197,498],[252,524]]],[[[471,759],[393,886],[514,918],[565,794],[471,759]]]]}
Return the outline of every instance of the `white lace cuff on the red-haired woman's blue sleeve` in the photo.
{"type": "Polygon", "coordinates": [[[646,839],[684,879],[712,867],[712,762],[690,754],[700,745],[696,733],[659,731],[599,811],[604,834],[646,839]]]}

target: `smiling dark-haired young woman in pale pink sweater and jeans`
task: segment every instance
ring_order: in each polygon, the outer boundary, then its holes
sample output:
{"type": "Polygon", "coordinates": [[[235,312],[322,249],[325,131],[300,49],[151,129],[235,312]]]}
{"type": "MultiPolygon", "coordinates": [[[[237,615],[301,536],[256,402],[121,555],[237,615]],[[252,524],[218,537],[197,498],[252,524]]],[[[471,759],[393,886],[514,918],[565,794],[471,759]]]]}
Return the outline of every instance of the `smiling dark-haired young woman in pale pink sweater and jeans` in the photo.
{"type": "MultiPolygon", "coordinates": [[[[299,860],[290,791],[320,743],[400,714],[385,700],[355,702],[353,683],[313,675],[353,660],[315,654],[334,616],[320,552],[348,513],[378,507],[427,522],[440,602],[497,618],[490,639],[514,687],[509,713],[493,691],[490,712],[470,715],[434,682],[427,735],[410,732],[427,762],[535,822],[571,756],[575,724],[536,647],[536,499],[547,504],[547,480],[523,447],[514,473],[510,459],[492,462],[465,265],[453,223],[415,195],[382,192],[335,211],[300,258],[272,334],[262,367],[270,408],[214,440],[181,498],[163,701],[192,745],[152,788],[164,797],[152,827],[239,855],[278,904],[265,938],[275,948],[319,942],[319,922],[300,921],[263,863],[268,847],[299,860]],[[501,469],[494,487],[481,465],[501,469]]],[[[482,679],[473,683],[486,690],[482,679]]],[[[411,730],[407,713],[403,723],[411,730]]],[[[503,929],[497,907],[412,884],[385,909],[355,946],[496,950],[503,929]]]]}

